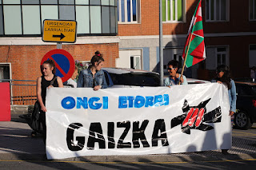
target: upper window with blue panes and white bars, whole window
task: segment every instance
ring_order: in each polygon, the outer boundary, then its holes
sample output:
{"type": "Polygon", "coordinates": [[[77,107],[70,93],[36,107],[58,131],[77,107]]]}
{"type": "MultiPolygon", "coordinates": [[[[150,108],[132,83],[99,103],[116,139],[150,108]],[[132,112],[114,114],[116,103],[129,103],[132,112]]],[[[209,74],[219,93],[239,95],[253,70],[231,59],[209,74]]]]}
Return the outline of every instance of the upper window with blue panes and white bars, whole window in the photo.
{"type": "Polygon", "coordinates": [[[138,23],[139,0],[118,0],[118,22],[138,23]]]}

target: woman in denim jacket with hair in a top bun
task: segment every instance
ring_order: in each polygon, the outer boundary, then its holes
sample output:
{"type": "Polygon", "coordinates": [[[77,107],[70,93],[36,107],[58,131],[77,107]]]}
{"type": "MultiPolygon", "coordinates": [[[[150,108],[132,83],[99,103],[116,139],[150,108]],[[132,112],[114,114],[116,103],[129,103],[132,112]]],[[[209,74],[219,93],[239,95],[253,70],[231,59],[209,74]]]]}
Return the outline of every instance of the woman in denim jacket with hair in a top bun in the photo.
{"type": "Polygon", "coordinates": [[[78,88],[79,87],[91,87],[94,90],[106,89],[106,78],[102,71],[104,64],[104,58],[99,51],[95,52],[94,57],[90,60],[91,65],[88,69],[83,69],[78,77],[78,88]]]}

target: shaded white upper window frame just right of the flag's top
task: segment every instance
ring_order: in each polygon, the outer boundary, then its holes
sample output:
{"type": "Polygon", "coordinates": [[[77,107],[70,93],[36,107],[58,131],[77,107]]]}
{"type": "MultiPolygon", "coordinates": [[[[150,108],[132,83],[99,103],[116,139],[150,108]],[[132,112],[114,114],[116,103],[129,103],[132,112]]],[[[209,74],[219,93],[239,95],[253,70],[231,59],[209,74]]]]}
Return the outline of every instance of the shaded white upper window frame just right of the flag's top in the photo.
{"type": "MultiPolygon", "coordinates": [[[[206,6],[206,22],[229,22],[230,20],[230,0],[218,0],[219,6],[217,7],[217,0],[206,0],[209,2],[209,9],[211,9],[211,2],[214,2],[214,19],[211,19],[211,12],[207,10],[206,6]],[[226,1],[226,10],[225,10],[225,16],[226,18],[224,20],[221,19],[222,10],[219,10],[219,19],[217,19],[217,11],[216,9],[221,9],[221,1],[226,1]],[[209,18],[207,18],[207,13],[209,13],[209,18]]],[[[206,2],[207,3],[207,2],[206,2]]]]}

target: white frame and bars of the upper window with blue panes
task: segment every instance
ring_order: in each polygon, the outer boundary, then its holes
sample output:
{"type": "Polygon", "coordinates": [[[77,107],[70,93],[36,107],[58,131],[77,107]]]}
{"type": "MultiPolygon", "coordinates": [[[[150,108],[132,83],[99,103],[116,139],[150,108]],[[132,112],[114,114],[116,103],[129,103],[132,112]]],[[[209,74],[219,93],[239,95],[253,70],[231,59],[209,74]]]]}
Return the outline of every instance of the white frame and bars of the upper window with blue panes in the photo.
{"type": "Polygon", "coordinates": [[[141,14],[141,8],[140,8],[140,0],[137,0],[136,4],[136,21],[133,21],[133,4],[132,0],[130,0],[130,22],[128,22],[128,12],[127,12],[127,0],[124,0],[124,9],[125,9],[125,22],[122,22],[122,8],[121,8],[121,1],[118,0],[118,16],[119,16],[119,21],[118,24],[134,24],[134,23],[139,23],[140,21],[140,14],[141,14]]]}

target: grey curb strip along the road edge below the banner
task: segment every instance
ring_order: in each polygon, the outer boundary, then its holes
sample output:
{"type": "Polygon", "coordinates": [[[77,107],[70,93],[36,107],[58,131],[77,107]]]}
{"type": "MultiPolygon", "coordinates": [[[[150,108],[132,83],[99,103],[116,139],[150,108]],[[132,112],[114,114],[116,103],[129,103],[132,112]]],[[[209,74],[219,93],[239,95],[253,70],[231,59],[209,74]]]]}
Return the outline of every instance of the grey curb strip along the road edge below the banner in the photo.
{"type": "Polygon", "coordinates": [[[54,162],[74,162],[81,161],[86,163],[116,163],[116,164],[163,164],[163,163],[189,163],[189,162],[224,162],[224,161],[242,161],[256,160],[256,154],[230,154],[222,155],[220,152],[216,155],[206,155],[204,153],[191,154],[161,154],[161,155],[145,155],[145,156],[81,156],[60,160],[47,160],[46,154],[24,154],[24,153],[2,153],[1,161],[54,161],[54,162]]]}

